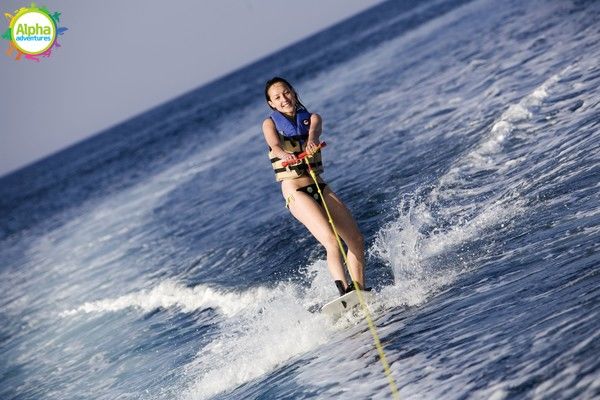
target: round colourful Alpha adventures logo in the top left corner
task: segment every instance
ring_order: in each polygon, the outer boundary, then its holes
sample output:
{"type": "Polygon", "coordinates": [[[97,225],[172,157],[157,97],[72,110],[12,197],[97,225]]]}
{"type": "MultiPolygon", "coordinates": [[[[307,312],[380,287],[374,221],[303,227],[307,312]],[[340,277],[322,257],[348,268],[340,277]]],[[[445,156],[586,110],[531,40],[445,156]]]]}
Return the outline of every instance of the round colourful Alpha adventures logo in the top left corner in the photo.
{"type": "Polygon", "coordinates": [[[40,57],[50,57],[52,50],[60,47],[58,36],[67,28],[59,26],[60,13],[51,13],[44,7],[31,3],[29,7],[21,7],[13,14],[4,13],[9,27],[2,35],[8,40],[6,55],[15,60],[25,58],[40,61],[40,57]]]}

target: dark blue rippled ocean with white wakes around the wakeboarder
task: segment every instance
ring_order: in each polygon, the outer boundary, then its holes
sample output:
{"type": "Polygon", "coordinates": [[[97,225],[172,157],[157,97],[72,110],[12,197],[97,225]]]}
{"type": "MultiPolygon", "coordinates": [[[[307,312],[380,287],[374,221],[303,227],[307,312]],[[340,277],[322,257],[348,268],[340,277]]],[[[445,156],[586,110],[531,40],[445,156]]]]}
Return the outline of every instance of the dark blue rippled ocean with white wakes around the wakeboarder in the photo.
{"type": "Polygon", "coordinates": [[[600,398],[600,3],[391,1],[0,179],[1,399],[388,399],[260,131],[283,75],[402,399],[600,398]]]}

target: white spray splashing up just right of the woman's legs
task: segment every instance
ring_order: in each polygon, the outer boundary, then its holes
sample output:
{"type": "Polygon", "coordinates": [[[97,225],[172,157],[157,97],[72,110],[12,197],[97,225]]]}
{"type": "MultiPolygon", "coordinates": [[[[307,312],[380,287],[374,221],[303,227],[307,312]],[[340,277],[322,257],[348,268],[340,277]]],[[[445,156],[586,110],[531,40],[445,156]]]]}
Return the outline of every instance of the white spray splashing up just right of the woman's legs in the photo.
{"type": "Polygon", "coordinates": [[[371,252],[392,268],[395,280],[393,286],[381,291],[387,307],[422,304],[450,285],[472,266],[462,257],[440,263],[444,255],[495,227],[503,227],[522,211],[517,199],[492,199],[444,209],[434,218],[431,207],[437,206],[438,196],[440,193],[433,191],[419,202],[411,197],[402,199],[399,216],[377,234],[371,252]],[[453,222],[448,224],[448,219],[453,222]]]}

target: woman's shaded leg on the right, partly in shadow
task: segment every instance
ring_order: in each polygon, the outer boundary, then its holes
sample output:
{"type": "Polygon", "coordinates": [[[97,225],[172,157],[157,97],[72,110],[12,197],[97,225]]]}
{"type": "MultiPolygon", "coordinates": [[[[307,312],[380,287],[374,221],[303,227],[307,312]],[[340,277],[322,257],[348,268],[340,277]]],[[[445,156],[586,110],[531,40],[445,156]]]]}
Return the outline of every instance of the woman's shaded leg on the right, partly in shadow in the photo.
{"type": "Polygon", "coordinates": [[[333,218],[336,230],[348,246],[348,269],[352,279],[365,287],[365,244],[354,217],[346,205],[329,187],[323,189],[325,202],[333,218]]]}

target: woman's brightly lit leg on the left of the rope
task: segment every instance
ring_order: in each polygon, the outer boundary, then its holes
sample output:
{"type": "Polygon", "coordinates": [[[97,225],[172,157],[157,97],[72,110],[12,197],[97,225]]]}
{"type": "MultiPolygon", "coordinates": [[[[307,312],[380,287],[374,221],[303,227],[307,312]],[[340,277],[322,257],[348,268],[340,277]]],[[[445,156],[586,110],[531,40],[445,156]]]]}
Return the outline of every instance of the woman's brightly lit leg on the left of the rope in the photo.
{"type": "Polygon", "coordinates": [[[289,198],[290,195],[293,196],[289,202],[292,215],[325,247],[327,267],[333,279],[347,285],[340,249],[325,211],[306,193],[293,191],[286,193],[285,197],[289,198]]]}

